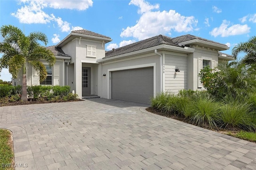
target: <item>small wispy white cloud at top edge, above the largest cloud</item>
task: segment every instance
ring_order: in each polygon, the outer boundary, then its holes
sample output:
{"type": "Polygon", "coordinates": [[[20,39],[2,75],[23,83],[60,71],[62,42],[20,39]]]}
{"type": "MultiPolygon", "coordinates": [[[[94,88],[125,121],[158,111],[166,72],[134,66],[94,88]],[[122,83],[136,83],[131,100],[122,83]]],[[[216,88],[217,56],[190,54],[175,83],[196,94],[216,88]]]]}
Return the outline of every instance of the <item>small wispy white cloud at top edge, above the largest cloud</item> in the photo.
{"type": "Polygon", "coordinates": [[[131,4],[139,7],[139,10],[138,10],[139,14],[143,14],[145,12],[159,8],[159,4],[151,5],[150,3],[144,0],[131,0],[129,5],[131,4]]]}

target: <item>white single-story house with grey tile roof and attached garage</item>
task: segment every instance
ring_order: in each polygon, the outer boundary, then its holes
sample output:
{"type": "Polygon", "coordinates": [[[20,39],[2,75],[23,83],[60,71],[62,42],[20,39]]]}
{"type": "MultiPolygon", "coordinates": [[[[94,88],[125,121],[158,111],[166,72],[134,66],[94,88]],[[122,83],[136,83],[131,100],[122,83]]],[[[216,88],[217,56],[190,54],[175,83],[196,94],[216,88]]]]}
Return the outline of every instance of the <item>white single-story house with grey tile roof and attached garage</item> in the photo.
{"type": "MultiPolygon", "coordinates": [[[[98,95],[149,103],[160,92],[201,90],[200,69],[234,60],[220,52],[229,49],[227,45],[189,34],[176,38],[158,35],[105,51],[105,44],[111,41],[88,30],[72,31],[57,45],[47,47],[56,63],[53,67],[45,63],[45,81],[39,82],[37,72],[27,65],[27,85],[69,85],[80,98],[98,95]]],[[[21,75],[13,82],[21,85],[21,75]]]]}

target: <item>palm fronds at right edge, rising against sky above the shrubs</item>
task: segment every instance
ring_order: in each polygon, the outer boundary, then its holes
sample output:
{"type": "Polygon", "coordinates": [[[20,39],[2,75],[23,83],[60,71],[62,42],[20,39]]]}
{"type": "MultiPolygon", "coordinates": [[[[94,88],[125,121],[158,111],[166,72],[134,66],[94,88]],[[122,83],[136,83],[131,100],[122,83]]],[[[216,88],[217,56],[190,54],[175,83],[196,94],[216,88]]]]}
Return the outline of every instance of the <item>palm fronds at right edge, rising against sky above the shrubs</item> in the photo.
{"type": "Polygon", "coordinates": [[[247,42],[238,43],[232,49],[232,55],[237,58],[238,53],[246,53],[243,61],[247,64],[256,63],[256,36],[251,37],[247,42]]]}

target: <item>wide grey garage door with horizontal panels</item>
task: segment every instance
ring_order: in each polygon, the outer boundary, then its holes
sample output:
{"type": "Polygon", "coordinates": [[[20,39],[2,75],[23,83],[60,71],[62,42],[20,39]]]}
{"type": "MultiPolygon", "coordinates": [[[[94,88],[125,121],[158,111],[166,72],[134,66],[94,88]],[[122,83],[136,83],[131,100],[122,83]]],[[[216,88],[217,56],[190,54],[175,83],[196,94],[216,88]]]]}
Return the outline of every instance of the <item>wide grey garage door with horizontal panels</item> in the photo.
{"type": "Polygon", "coordinates": [[[111,98],[150,104],[154,93],[154,69],[146,67],[112,71],[111,98]]]}

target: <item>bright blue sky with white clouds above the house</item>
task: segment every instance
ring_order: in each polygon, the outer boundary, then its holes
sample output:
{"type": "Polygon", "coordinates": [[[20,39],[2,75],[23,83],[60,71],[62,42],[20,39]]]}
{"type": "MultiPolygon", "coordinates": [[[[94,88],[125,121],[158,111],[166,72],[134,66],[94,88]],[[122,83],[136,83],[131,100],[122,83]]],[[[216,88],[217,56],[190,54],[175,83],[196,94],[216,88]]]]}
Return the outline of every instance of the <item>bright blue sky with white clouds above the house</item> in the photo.
{"type": "MultiPolygon", "coordinates": [[[[228,45],[222,52],[231,54],[256,36],[255,9],[255,0],[0,0],[0,26],[44,32],[47,46],[86,29],[112,38],[106,50],[159,34],[192,34],[228,45]]],[[[0,79],[11,80],[8,70],[0,79]]]]}

